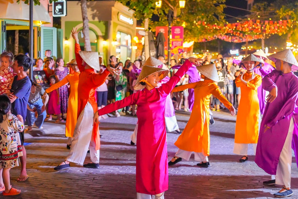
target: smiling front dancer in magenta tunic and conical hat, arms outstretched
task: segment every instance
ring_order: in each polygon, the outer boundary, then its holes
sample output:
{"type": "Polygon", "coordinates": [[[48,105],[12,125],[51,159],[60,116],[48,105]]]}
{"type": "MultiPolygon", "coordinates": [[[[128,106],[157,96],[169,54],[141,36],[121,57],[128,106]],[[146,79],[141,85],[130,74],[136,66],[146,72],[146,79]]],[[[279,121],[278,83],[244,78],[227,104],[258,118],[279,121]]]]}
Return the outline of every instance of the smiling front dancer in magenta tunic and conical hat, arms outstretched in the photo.
{"type": "Polygon", "coordinates": [[[177,82],[200,59],[190,57],[167,83],[159,87],[159,81],[168,75],[168,70],[144,65],[134,89],[138,91],[122,100],[101,108],[98,116],[129,105],[138,105],[139,128],[137,133],[136,190],[137,198],[164,198],[168,190],[168,155],[165,125],[166,98],[177,82]]]}

